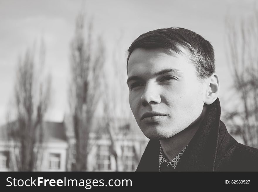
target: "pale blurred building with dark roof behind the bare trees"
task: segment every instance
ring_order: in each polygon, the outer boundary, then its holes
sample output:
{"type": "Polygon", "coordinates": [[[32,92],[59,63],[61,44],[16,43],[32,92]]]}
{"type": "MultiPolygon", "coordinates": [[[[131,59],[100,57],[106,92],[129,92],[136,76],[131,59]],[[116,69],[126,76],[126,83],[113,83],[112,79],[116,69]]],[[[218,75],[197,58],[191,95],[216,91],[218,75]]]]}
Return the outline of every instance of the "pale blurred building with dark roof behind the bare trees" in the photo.
{"type": "MultiPolygon", "coordinates": [[[[95,118],[89,139],[88,171],[135,171],[149,141],[135,121],[116,119],[113,129],[117,161],[111,153],[111,139],[105,131],[103,118],[95,118]]],[[[72,171],[75,138],[71,118],[63,122],[44,122],[43,143],[37,171],[72,171]]],[[[7,126],[0,127],[0,171],[16,171],[15,142],[8,139],[7,126]]]]}

